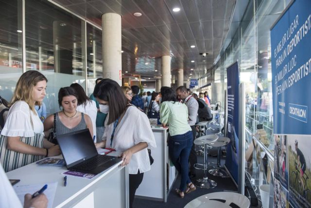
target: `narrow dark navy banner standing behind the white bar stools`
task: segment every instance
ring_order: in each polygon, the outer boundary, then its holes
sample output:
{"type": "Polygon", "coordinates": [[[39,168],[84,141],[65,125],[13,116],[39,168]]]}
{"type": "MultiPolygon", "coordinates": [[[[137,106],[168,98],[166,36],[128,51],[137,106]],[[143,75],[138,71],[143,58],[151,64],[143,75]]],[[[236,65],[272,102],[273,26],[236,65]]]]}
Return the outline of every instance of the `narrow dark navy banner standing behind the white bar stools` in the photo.
{"type": "Polygon", "coordinates": [[[239,66],[236,62],[227,68],[227,136],[231,141],[230,145],[226,146],[225,166],[237,184],[239,171],[239,84],[239,66]]]}

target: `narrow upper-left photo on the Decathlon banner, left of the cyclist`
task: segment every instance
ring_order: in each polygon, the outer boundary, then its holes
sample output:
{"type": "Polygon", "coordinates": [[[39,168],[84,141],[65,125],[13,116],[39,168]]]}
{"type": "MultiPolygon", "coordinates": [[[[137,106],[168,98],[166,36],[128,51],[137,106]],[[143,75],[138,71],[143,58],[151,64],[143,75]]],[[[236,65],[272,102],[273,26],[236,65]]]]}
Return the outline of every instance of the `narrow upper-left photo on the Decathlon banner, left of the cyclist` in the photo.
{"type": "Polygon", "coordinates": [[[288,149],[287,135],[274,135],[274,177],[288,189],[288,149]]]}

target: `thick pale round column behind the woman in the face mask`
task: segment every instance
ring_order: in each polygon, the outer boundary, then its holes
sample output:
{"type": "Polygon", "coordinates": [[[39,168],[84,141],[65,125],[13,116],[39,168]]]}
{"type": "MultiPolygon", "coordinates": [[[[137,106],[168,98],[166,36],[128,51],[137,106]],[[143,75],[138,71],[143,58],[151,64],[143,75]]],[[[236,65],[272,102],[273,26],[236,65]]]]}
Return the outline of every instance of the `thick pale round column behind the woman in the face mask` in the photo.
{"type": "Polygon", "coordinates": [[[102,15],[103,27],[103,78],[122,85],[121,16],[115,13],[102,15]]]}

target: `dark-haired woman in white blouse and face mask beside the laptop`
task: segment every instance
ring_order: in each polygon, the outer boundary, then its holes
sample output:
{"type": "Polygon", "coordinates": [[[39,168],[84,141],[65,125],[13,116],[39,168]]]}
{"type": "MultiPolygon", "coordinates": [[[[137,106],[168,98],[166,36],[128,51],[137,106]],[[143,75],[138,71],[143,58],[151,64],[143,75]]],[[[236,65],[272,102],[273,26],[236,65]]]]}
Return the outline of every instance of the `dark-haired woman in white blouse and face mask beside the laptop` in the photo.
{"type": "Polygon", "coordinates": [[[132,208],[143,174],[151,169],[147,147],[156,147],[155,136],[146,114],[135,106],[127,105],[127,99],[116,81],[102,80],[95,86],[94,96],[100,103],[101,112],[109,112],[103,142],[96,143],[96,147],[122,152],[122,165],[129,164],[129,198],[132,208]]]}

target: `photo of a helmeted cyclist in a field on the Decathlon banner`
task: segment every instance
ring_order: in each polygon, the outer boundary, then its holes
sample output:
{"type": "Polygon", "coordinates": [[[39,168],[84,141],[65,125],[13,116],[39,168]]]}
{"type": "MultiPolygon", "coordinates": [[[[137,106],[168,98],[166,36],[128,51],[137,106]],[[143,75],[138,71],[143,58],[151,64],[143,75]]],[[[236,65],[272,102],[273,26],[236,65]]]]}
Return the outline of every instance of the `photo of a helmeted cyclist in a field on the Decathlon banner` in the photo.
{"type": "Polygon", "coordinates": [[[294,207],[311,207],[311,135],[287,135],[290,202],[294,207]]]}

